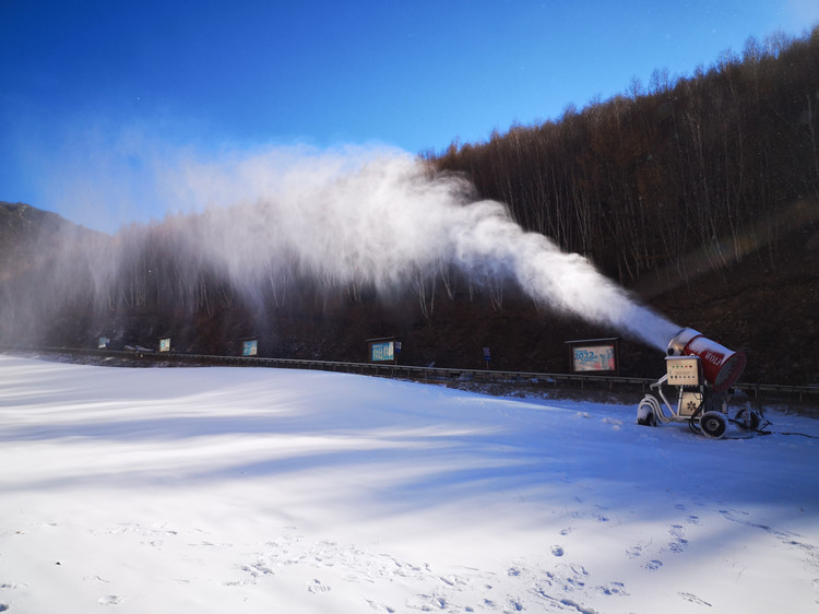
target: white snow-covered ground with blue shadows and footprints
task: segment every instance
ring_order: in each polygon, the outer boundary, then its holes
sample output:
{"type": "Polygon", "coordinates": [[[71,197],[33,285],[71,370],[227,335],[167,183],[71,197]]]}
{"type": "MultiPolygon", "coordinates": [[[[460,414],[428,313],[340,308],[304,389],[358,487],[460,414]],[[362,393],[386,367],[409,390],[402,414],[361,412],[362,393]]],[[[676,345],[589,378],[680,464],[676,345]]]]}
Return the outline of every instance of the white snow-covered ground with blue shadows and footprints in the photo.
{"type": "Polygon", "coordinates": [[[0,355],[0,611],[819,611],[819,439],[638,401],[0,355]]]}

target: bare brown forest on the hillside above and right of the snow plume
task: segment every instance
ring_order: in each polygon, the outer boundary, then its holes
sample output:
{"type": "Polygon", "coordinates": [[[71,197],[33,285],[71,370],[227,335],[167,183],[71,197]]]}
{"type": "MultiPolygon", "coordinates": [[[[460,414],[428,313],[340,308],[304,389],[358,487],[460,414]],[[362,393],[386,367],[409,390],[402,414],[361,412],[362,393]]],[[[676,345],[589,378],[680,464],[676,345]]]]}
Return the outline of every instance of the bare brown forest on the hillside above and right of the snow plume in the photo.
{"type": "Polygon", "coordinates": [[[748,252],[775,263],[776,239],[819,217],[819,27],[426,158],[624,284],[695,274],[695,251],[715,269],[748,252]]]}

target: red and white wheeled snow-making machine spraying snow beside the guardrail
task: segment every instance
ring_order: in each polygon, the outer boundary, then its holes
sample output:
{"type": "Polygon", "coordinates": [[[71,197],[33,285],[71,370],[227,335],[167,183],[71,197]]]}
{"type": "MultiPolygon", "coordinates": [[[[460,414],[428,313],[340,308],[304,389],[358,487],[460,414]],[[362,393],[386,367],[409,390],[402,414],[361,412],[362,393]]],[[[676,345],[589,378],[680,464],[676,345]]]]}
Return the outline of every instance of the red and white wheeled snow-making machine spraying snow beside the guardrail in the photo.
{"type": "Polygon", "coordinates": [[[680,330],[668,343],[666,373],[637,408],[638,424],[687,422],[692,432],[719,439],[728,423],[746,430],[760,428],[761,416],[750,403],[728,417],[733,386],[745,369],[743,352],[733,352],[693,329],[680,330]],[[666,395],[666,389],[675,389],[666,395]]]}

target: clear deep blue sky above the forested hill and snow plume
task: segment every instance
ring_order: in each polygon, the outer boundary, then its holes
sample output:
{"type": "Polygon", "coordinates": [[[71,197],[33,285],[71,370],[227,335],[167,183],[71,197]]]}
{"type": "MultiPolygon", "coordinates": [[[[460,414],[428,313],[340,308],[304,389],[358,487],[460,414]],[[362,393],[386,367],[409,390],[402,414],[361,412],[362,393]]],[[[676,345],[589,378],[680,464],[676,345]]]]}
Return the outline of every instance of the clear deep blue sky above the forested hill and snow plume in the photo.
{"type": "Polygon", "coordinates": [[[146,221],[168,152],[440,152],[817,23],[817,0],[0,0],[0,200],[146,221]]]}

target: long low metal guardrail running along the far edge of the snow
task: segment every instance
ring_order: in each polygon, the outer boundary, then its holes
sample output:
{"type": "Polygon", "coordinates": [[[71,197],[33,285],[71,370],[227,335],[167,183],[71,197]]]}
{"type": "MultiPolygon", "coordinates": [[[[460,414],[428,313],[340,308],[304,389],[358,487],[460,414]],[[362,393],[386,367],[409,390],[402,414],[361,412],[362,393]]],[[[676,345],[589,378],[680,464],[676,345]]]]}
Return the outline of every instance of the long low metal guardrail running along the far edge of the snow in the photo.
{"type": "MultiPolygon", "coordinates": [[[[537,371],[500,371],[489,369],[459,369],[448,367],[420,367],[379,363],[345,363],[334,361],[310,361],[301,358],[262,358],[258,356],[221,356],[206,354],[180,354],[155,351],[96,350],[75,347],[9,347],[0,346],[0,352],[45,352],[55,354],[94,355],[123,359],[162,361],[190,365],[213,366],[257,366],[284,369],[313,369],[358,375],[410,379],[415,381],[475,381],[482,383],[527,383],[559,387],[560,385],[590,386],[639,386],[645,391],[656,381],[653,378],[602,376],[581,374],[547,374],[537,371]]],[[[776,383],[736,383],[735,387],[755,399],[767,394],[774,397],[798,395],[799,401],[819,400],[819,386],[790,386],[776,383]]]]}

